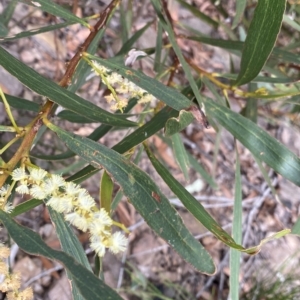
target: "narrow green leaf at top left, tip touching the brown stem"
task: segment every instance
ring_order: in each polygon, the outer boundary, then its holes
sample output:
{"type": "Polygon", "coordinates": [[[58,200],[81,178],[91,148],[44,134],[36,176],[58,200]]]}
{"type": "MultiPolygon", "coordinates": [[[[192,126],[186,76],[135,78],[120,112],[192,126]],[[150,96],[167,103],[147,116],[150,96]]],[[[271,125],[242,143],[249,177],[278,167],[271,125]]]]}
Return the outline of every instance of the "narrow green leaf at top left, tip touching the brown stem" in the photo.
{"type": "Polygon", "coordinates": [[[49,0],[35,0],[35,1],[30,1],[30,0],[20,0],[20,2],[23,2],[25,4],[34,6],[36,8],[39,8],[43,11],[48,12],[49,14],[52,14],[57,17],[61,17],[67,21],[72,21],[79,23],[85,27],[90,28],[90,25],[81,18],[78,18],[74,14],[72,14],[70,11],[66,10],[63,8],[61,5],[56,4],[54,1],[49,1],[49,0]]]}

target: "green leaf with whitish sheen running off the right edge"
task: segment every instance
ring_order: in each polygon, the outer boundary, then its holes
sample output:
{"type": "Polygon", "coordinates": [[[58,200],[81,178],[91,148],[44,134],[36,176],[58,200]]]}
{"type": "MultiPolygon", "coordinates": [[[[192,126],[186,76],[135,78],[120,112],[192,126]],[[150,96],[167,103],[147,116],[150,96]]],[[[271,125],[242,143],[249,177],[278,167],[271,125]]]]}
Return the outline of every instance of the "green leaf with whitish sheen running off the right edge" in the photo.
{"type": "Polygon", "coordinates": [[[205,101],[206,112],[215,118],[254,156],[300,186],[300,159],[252,121],[213,100],[205,101]]]}

